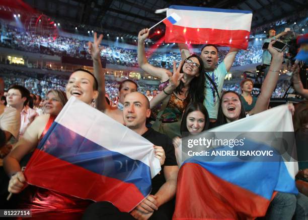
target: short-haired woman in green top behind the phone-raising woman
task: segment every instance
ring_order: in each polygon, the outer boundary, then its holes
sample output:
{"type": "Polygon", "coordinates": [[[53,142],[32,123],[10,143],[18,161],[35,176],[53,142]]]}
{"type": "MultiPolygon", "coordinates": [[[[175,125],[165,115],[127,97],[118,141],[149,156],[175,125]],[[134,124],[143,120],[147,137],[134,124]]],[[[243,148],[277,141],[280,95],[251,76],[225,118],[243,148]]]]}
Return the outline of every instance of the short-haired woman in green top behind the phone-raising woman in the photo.
{"type": "Polygon", "coordinates": [[[251,79],[243,79],[240,83],[240,87],[242,90],[241,99],[242,103],[244,105],[246,113],[249,113],[251,111],[257,101],[257,97],[251,95],[251,91],[254,87],[254,82],[251,79]]]}

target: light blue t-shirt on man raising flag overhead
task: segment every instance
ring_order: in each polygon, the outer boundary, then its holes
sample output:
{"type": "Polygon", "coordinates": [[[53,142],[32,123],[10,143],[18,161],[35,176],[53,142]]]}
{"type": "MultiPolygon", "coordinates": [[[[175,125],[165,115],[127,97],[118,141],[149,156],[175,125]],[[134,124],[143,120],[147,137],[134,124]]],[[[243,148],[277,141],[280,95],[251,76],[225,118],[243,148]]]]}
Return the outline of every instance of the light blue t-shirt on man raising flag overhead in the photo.
{"type": "MultiPolygon", "coordinates": [[[[205,74],[207,74],[212,79],[212,81],[215,83],[217,90],[219,92],[219,96],[221,97],[221,90],[222,90],[224,77],[227,74],[224,61],[222,61],[216,67],[216,69],[214,69],[214,71],[205,72],[205,74]]],[[[218,99],[218,95],[215,91],[214,86],[207,78],[205,78],[205,99],[203,101],[203,105],[207,109],[209,118],[217,119],[219,99],[218,99]]]]}

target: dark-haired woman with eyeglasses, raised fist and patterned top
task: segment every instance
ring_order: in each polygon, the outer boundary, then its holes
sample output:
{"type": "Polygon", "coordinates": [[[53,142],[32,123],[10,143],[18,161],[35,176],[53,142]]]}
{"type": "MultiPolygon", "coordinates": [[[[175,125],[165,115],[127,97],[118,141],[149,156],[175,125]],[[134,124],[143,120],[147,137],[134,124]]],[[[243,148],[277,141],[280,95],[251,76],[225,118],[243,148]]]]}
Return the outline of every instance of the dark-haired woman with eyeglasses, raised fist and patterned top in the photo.
{"type": "Polygon", "coordinates": [[[203,102],[203,62],[199,56],[191,55],[176,68],[174,61],[173,73],[152,66],[145,57],[144,41],[148,34],[148,29],[138,34],[138,64],[151,76],[161,79],[161,92],[150,101],[151,109],[158,106],[158,110],[153,111],[157,112],[157,119],[152,128],[174,138],[181,135],[181,118],[187,104],[191,101],[203,102]]]}

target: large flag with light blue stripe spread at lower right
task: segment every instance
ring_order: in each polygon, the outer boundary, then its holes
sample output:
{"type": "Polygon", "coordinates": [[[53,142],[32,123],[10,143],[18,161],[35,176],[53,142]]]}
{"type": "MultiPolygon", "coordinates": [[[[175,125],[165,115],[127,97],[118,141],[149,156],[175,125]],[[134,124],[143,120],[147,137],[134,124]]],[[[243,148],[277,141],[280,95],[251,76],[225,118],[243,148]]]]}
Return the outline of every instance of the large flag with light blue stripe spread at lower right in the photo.
{"type": "MultiPolygon", "coordinates": [[[[264,140],[273,138],[273,143],[285,142],[273,136],[273,132],[293,135],[292,116],[287,105],[281,105],[263,113],[241,119],[204,132],[200,137],[222,137],[245,139],[242,147],[232,150],[273,150],[264,140]],[[232,131],[232,132],[230,132],[232,131]],[[212,133],[213,132],[213,133],[212,133]],[[234,132],[242,132],[233,137],[234,132]],[[210,133],[208,135],[208,133],[210,133]],[[259,134],[258,134],[259,133],[259,134]],[[208,136],[207,136],[208,135],[208,136]],[[221,135],[221,136],[220,136],[221,135]],[[223,134],[226,137],[226,134],[223,134]],[[255,138],[259,136],[259,138],[255,138]]],[[[235,133],[234,133],[235,134],[235,133]]],[[[279,135],[278,133],[275,133],[279,135]]],[[[199,137],[195,138],[198,139],[199,137]]],[[[182,145],[183,145],[182,141],[182,145]]],[[[283,146],[283,145],[281,145],[283,146]]],[[[229,146],[208,150],[225,151],[229,146]]],[[[182,146],[182,150],[185,149],[182,146]]],[[[285,153],[286,154],[286,153],[285,153]]],[[[178,174],[176,208],[173,219],[250,219],[266,214],[272,198],[278,192],[297,194],[295,174],[297,162],[274,150],[274,157],[265,161],[259,157],[194,156],[188,158],[178,174]]],[[[263,158],[265,159],[265,157],[263,158]]]]}

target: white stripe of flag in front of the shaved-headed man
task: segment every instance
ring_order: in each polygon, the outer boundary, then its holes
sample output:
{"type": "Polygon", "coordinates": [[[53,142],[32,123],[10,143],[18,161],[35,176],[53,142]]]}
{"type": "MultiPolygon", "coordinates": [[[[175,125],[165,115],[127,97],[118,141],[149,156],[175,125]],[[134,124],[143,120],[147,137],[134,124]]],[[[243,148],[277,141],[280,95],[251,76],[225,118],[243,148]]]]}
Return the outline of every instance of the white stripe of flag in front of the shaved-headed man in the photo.
{"type": "Polygon", "coordinates": [[[55,122],[110,151],[140,160],[152,168],[152,177],[161,170],[152,143],[73,96],[55,122]]]}

